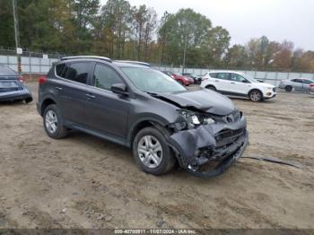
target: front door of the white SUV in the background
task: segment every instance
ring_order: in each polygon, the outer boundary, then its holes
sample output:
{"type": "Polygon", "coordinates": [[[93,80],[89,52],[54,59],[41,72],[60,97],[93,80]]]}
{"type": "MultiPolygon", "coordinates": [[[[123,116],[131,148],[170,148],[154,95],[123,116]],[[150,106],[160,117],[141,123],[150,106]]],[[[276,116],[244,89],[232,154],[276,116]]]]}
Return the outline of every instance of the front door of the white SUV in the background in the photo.
{"type": "Polygon", "coordinates": [[[230,91],[234,95],[248,95],[251,83],[240,74],[230,73],[230,91]]]}

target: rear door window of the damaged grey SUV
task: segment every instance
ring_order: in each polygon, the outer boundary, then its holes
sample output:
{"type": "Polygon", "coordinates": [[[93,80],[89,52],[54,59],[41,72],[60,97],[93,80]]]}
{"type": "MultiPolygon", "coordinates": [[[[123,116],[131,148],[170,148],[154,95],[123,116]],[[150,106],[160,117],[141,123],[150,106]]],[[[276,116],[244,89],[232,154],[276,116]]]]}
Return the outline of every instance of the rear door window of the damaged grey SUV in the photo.
{"type": "Polygon", "coordinates": [[[92,66],[91,62],[72,63],[68,68],[66,78],[77,83],[86,84],[88,73],[91,70],[91,66],[92,66]]]}

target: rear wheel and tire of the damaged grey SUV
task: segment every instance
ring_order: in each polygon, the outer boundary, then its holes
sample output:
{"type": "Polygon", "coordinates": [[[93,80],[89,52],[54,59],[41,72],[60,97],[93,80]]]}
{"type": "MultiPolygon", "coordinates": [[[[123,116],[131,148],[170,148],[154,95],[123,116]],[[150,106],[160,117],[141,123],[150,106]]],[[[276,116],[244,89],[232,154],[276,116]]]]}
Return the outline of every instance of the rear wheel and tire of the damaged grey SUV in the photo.
{"type": "Polygon", "coordinates": [[[61,139],[67,135],[67,129],[63,125],[62,117],[55,104],[51,104],[45,109],[43,125],[50,138],[61,139]]]}

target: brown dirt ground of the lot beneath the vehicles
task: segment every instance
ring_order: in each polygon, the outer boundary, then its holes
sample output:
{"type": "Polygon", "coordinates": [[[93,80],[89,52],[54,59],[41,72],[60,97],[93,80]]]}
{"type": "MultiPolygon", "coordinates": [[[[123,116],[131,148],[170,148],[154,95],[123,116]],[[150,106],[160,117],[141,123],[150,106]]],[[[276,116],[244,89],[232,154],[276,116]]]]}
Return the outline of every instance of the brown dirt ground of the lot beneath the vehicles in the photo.
{"type": "MultiPolygon", "coordinates": [[[[37,100],[37,83],[29,83],[37,100]]],[[[0,228],[314,228],[314,97],[233,100],[244,156],[218,178],[137,169],[130,150],[74,133],[48,138],[35,108],[0,105],[0,228]]]]}

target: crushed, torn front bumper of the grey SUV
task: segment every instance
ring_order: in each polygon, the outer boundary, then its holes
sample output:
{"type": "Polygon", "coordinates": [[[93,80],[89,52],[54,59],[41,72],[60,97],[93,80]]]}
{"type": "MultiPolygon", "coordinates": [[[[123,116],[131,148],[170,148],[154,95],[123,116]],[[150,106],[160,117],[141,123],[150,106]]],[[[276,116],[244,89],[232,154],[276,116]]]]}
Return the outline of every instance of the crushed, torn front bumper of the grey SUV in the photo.
{"type": "Polygon", "coordinates": [[[170,146],[177,152],[179,164],[196,177],[210,178],[222,174],[237,161],[249,144],[246,118],[233,123],[197,126],[170,135],[170,146]],[[212,170],[201,170],[216,162],[212,170]]]}

